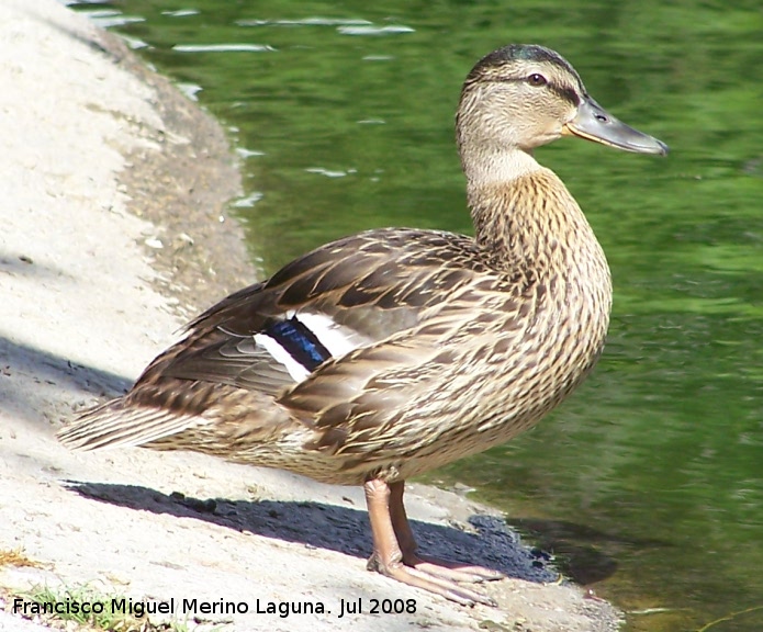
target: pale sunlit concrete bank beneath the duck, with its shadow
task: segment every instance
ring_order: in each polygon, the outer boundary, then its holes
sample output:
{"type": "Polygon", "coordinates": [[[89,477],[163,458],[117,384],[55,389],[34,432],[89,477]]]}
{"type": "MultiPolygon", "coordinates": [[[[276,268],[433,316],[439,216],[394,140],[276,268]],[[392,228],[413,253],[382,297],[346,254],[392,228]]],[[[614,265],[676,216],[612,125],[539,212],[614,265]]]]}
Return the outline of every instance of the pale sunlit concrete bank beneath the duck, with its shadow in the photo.
{"type": "Polygon", "coordinates": [[[366,572],[360,489],[198,454],[59,447],[61,420],[123,392],[190,315],[251,281],[224,211],[239,180],[214,121],[54,0],[0,3],[0,630],[55,624],[12,613],[41,585],[175,599],[165,619],[190,630],[617,628],[614,609],[554,584],[458,495],[414,486],[414,527],[430,553],[505,569],[484,587],[498,609],[366,572]],[[373,599],[414,606],[372,614],[373,599]],[[201,607],[221,600],[239,612],[201,607]]]}

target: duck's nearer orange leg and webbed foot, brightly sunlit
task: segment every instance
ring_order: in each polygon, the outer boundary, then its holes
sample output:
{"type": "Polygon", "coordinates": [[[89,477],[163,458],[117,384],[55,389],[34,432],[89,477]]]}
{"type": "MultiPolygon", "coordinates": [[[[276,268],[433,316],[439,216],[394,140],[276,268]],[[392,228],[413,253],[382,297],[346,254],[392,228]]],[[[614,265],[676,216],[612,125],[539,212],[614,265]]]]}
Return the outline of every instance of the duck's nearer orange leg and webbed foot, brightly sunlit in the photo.
{"type": "MultiPolygon", "coordinates": [[[[406,523],[405,509],[402,506],[403,489],[402,483],[400,487],[394,487],[394,500],[391,486],[384,481],[372,478],[363,485],[366,492],[366,503],[368,504],[368,515],[371,522],[371,534],[373,537],[373,553],[368,562],[370,571],[377,571],[382,575],[397,579],[403,584],[423,588],[429,592],[441,595],[446,599],[461,603],[462,606],[473,606],[474,603],[484,603],[485,606],[496,606],[495,601],[490,597],[480,595],[475,590],[459,586],[456,580],[448,577],[442,577],[441,574],[431,573],[429,569],[418,568],[417,565],[406,566],[403,560],[403,552],[397,541],[395,528],[393,526],[393,517],[391,508],[395,507],[395,519],[399,523],[406,523]],[[402,518],[401,518],[402,508],[402,518]]],[[[406,539],[406,548],[413,546],[415,550],[415,541],[411,533],[409,527],[406,531],[403,530],[404,539],[406,539]]],[[[419,564],[428,565],[429,562],[424,562],[413,555],[419,564]]],[[[448,568],[440,568],[448,571],[448,568]]],[[[471,574],[464,574],[467,577],[472,577],[471,574]]]]}

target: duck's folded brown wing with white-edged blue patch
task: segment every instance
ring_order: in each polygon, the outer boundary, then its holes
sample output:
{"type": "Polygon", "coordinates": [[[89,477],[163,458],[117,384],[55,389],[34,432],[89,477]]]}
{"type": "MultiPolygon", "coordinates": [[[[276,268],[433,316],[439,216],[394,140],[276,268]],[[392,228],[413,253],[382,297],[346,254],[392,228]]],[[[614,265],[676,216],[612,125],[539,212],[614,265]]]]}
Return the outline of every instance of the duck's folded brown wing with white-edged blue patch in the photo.
{"type": "Polygon", "coordinates": [[[475,250],[468,237],[425,230],[335,241],[199,316],[138,384],[161,375],[278,396],[326,363],[417,327],[473,278],[464,262],[475,250]]]}

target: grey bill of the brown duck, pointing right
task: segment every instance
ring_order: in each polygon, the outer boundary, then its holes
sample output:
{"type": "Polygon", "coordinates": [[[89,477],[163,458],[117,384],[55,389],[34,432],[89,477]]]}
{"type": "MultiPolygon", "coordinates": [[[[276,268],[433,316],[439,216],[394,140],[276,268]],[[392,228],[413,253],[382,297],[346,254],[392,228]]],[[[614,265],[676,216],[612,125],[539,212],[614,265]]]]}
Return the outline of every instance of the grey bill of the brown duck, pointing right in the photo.
{"type": "Polygon", "coordinates": [[[667,154],[667,145],[662,140],[618,121],[590,97],[581,101],[577,115],[564,125],[562,134],[636,154],[667,154]]]}

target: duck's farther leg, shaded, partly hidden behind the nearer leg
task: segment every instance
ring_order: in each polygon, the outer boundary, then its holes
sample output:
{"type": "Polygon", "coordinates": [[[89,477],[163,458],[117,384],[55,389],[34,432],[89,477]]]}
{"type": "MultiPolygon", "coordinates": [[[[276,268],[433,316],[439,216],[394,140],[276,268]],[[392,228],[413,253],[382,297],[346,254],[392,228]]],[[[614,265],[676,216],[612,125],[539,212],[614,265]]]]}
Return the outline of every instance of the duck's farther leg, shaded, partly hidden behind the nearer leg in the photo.
{"type": "Polygon", "coordinates": [[[405,481],[390,483],[390,516],[392,528],[395,531],[397,543],[403,553],[403,564],[413,566],[431,575],[452,579],[453,582],[493,582],[504,579],[506,576],[500,571],[475,566],[451,560],[441,560],[418,555],[416,550],[416,539],[414,538],[408,517],[405,514],[403,494],[405,493],[405,481]]]}

